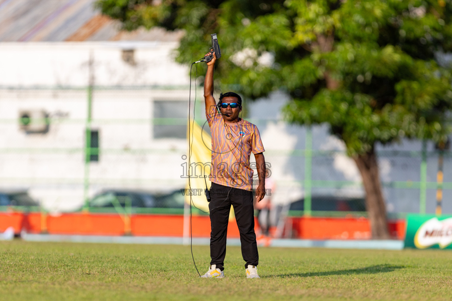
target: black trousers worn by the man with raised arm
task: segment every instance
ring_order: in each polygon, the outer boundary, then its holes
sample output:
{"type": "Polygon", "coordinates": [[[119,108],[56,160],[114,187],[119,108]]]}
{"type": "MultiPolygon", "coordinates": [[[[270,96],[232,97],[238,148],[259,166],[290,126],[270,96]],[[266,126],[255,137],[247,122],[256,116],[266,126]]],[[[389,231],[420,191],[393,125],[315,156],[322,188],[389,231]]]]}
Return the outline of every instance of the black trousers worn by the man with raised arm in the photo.
{"type": "Polygon", "coordinates": [[[227,225],[232,205],[240,232],[242,257],[246,261],[245,269],[248,268],[248,264],[258,265],[259,254],[254,233],[253,193],[212,183],[210,198],[210,257],[212,258],[210,264],[216,264],[218,269],[223,270],[227,225]]]}

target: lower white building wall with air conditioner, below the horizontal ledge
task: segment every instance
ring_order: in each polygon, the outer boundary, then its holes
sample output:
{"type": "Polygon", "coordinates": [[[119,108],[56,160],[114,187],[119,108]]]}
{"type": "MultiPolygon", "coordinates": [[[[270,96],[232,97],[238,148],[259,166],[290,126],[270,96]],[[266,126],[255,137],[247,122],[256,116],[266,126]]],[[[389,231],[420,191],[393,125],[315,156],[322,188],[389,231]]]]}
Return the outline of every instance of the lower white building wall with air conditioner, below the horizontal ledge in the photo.
{"type": "MultiPolygon", "coordinates": [[[[184,187],[185,139],[154,139],[153,100],[185,100],[184,90],[101,90],[93,94],[91,128],[99,130],[99,162],[89,163],[89,194],[105,188],[171,190],[184,187]]],[[[0,90],[0,187],[29,189],[46,207],[83,202],[87,92],[0,90]],[[19,112],[44,110],[47,133],[27,134],[19,112]]]]}

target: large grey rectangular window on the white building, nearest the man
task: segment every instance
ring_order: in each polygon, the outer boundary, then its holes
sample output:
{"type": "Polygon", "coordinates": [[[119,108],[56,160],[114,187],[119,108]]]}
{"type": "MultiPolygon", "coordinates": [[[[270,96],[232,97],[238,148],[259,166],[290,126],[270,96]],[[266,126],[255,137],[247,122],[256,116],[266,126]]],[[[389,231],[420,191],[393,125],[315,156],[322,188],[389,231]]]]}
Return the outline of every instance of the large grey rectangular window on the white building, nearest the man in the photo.
{"type": "Polygon", "coordinates": [[[154,138],[187,137],[187,102],[154,102],[154,138]]]}

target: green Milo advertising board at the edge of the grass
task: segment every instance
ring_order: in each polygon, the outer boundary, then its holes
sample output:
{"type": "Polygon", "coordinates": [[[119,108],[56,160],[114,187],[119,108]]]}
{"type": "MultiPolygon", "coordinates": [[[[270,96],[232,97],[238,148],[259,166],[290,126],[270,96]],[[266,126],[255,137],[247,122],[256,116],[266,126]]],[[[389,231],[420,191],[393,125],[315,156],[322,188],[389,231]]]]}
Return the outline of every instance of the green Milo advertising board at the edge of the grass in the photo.
{"type": "Polygon", "coordinates": [[[408,215],[405,248],[452,249],[452,216],[408,215]]]}

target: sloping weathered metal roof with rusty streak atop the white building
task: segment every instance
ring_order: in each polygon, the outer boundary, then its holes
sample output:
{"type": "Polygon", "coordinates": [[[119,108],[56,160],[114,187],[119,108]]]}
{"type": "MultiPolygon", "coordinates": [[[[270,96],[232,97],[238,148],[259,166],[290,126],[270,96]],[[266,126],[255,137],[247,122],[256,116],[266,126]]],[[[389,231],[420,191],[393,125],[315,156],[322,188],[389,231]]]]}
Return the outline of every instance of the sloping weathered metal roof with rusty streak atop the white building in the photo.
{"type": "Polygon", "coordinates": [[[120,30],[95,0],[0,0],[0,42],[178,41],[182,32],[161,28],[120,30]]]}

